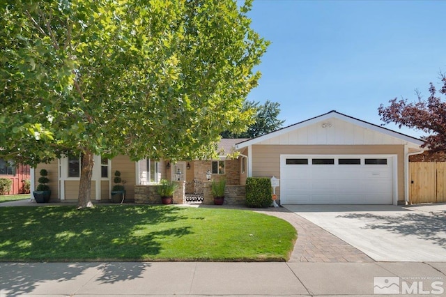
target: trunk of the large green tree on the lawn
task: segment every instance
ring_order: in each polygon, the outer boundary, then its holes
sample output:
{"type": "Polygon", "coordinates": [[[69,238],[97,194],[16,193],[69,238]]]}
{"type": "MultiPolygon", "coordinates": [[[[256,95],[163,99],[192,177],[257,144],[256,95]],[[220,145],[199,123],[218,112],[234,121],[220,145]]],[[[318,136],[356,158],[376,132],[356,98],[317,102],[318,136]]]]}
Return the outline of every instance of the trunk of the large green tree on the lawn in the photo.
{"type": "Polygon", "coordinates": [[[77,209],[93,207],[93,204],[91,203],[91,176],[93,176],[94,164],[93,153],[91,153],[91,151],[85,151],[84,156],[82,157],[77,209]]]}

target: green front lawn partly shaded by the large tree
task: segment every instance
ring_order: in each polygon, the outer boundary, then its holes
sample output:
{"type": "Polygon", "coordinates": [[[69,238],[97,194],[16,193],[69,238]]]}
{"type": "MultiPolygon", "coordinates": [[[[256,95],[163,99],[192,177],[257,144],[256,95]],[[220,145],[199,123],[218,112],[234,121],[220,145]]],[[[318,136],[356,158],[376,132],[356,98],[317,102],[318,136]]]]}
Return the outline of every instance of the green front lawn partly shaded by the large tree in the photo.
{"type": "Polygon", "coordinates": [[[0,261],[286,261],[296,231],[253,211],[1,207],[0,261]]]}

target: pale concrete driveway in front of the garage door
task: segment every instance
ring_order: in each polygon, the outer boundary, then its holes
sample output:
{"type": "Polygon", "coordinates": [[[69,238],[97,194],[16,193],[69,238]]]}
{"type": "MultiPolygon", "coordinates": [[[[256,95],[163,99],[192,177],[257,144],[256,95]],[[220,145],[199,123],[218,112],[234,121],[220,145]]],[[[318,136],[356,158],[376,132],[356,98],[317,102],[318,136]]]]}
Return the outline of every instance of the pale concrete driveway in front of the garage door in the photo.
{"type": "Polygon", "coordinates": [[[375,261],[446,261],[446,204],[284,207],[375,261]]]}

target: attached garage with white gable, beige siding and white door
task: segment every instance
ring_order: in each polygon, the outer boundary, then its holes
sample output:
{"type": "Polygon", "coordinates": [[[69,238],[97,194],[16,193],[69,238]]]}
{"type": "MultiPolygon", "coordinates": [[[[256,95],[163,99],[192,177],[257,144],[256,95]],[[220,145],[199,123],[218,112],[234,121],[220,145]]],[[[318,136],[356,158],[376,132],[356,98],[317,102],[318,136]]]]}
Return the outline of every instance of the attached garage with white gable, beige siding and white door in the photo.
{"type": "Polygon", "coordinates": [[[236,144],[247,176],[279,178],[280,204],[406,204],[422,140],[336,111],[236,144]]]}

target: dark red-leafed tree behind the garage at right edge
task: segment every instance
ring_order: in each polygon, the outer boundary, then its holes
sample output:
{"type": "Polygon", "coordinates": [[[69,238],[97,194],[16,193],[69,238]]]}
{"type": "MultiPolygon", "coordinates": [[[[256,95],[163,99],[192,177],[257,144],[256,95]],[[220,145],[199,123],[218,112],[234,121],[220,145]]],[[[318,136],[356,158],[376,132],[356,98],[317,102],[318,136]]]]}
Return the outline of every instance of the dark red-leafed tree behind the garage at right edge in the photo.
{"type": "MultiPolygon", "coordinates": [[[[439,93],[446,96],[446,75],[441,75],[443,86],[439,93]]],[[[406,100],[390,100],[390,105],[380,105],[378,113],[385,123],[396,123],[408,128],[420,129],[429,134],[422,137],[423,147],[432,151],[446,150],[446,102],[437,96],[437,90],[432,83],[429,87],[430,96],[423,100],[417,92],[417,102],[408,103],[406,100]]]]}

